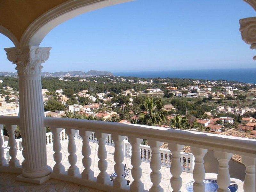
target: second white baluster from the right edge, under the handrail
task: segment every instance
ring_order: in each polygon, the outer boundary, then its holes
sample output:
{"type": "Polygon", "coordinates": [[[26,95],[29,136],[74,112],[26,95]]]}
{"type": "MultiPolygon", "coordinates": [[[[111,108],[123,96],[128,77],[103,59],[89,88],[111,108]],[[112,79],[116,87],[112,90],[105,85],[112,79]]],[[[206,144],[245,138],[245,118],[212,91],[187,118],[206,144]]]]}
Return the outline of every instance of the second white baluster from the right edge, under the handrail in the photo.
{"type": "Polygon", "coordinates": [[[217,184],[219,188],[217,192],[230,192],[228,186],[230,185],[230,175],[228,171],[228,162],[233,154],[222,151],[215,151],[214,156],[219,161],[219,171],[217,176],[217,184]]]}

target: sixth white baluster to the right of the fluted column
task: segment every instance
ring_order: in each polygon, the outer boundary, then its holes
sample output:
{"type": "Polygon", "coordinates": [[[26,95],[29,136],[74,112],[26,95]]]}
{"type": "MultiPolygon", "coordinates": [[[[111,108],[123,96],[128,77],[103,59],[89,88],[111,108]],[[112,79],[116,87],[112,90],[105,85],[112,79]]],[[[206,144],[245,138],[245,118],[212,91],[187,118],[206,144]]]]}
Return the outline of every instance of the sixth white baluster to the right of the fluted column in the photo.
{"type": "Polygon", "coordinates": [[[144,191],[144,184],[140,180],[142,176],[142,169],[140,168],[140,165],[141,165],[140,143],[142,142],[142,139],[129,137],[128,140],[132,145],[131,164],[132,164],[132,178],[134,179],[132,181],[130,189],[132,192],[142,192],[144,191]]]}

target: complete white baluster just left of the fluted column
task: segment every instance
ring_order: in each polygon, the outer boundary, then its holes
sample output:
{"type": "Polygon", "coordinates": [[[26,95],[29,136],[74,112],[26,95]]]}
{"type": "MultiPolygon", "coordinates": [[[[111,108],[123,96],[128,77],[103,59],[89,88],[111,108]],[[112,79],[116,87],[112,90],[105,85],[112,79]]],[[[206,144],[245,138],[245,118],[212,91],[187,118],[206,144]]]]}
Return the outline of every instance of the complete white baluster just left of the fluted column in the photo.
{"type": "Polygon", "coordinates": [[[5,126],[9,133],[8,145],[10,147],[9,154],[11,156],[11,159],[9,161],[9,166],[17,167],[20,164],[20,161],[16,158],[17,149],[16,149],[16,140],[15,140],[15,136],[14,136],[14,131],[16,129],[16,125],[6,124],[5,126]]]}

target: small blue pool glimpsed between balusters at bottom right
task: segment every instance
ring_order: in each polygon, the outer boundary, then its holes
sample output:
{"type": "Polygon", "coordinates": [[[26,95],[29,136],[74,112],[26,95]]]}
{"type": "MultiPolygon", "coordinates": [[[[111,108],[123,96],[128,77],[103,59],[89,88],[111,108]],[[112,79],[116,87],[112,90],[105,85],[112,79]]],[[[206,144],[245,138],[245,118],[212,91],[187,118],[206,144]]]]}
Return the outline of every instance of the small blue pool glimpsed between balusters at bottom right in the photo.
{"type": "MultiPolygon", "coordinates": [[[[193,192],[193,183],[194,181],[187,183],[186,189],[188,190],[188,192],[193,192]]],[[[217,191],[218,189],[217,180],[205,179],[204,183],[205,183],[205,192],[217,191]]],[[[235,183],[234,184],[231,183],[228,188],[230,189],[230,192],[236,192],[238,189],[238,186],[235,183]]]]}

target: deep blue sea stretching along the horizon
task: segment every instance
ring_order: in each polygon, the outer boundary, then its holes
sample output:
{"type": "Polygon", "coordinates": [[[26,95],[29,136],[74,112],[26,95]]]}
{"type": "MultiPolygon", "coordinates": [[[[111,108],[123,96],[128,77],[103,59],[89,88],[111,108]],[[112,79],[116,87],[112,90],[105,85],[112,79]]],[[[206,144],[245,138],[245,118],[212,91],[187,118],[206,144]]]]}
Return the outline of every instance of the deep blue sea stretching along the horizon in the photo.
{"type": "Polygon", "coordinates": [[[256,68],[116,72],[116,76],[231,80],[256,84],[256,68]]]}

